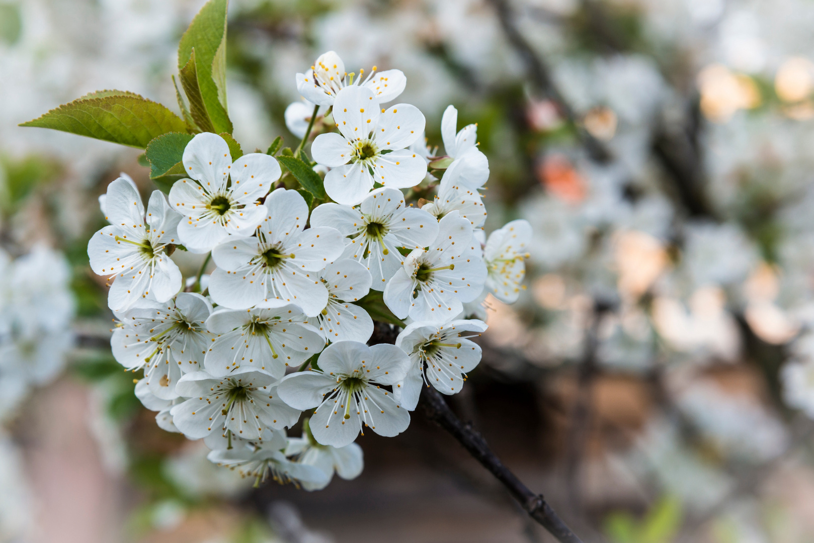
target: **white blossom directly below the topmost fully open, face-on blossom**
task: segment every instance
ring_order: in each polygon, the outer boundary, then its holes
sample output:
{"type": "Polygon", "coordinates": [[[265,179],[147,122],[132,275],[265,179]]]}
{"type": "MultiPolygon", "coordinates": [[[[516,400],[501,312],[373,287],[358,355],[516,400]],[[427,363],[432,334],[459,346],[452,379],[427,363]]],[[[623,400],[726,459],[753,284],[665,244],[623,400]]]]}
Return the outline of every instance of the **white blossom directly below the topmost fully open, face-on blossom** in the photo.
{"type": "Polygon", "coordinates": [[[311,213],[312,226],[333,226],[345,239],[343,258],[364,264],[381,291],[404,264],[398,247],[427,247],[438,235],[438,224],[421,209],[405,205],[400,190],[374,190],[357,207],[322,204],[311,213]]]}

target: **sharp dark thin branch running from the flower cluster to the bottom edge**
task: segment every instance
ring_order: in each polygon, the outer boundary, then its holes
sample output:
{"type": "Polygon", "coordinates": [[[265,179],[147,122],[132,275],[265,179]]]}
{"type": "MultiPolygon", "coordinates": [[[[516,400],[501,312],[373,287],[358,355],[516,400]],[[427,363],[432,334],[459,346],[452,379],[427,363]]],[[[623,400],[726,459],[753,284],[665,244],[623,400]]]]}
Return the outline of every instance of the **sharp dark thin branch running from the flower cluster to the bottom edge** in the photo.
{"type": "Polygon", "coordinates": [[[541,494],[535,494],[523,481],[517,478],[509,468],[503,465],[500,458],[497,458],[492,449],[489,449],[484,437],[475,431],[470,424],[462,423],[459,418],[449,409],[444,398],[435,388],[424,388],[421,394],[421,401],[418,409],[429,420],[437,423],[460,443],[475,460],[480,462],[503,486],[509,491],[512,497],[523,507],[532,519],[548,530],[551,535],[557,538],[560,543],[582,543],[579,537],[566,523],[559,518],[554,509],[549,506],[541,494]]]}

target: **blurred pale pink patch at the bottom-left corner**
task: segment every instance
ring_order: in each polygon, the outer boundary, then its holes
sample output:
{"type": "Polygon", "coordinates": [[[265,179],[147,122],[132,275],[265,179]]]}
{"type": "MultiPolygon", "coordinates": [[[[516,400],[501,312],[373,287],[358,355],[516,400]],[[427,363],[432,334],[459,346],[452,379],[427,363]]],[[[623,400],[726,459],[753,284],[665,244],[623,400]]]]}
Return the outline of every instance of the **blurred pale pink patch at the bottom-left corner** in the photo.
{"type": "Polygon", "coordinates": [[[66,377],[37,391],[21,409],[32,543],[124,541],[128,486],[106,469],[91,430],[93,404],[91,389],[66,377]]]}

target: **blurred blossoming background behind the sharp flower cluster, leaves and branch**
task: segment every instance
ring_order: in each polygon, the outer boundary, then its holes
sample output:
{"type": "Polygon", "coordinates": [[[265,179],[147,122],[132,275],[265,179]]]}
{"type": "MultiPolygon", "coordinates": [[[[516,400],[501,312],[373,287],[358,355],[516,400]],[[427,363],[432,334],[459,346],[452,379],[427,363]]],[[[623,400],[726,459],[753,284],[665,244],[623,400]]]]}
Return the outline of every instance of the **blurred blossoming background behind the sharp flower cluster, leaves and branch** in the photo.
{"type": "MultiPolygon", "coordinates": [[[[553,541],[419,414],[306,493],[252,489],[133,396],[86,244],[107,183],[147,195],[148,169],[17,124],[103,89],[175,109],[203,3],[0,0],[0,541],[553,541]]],[[[586,542],[806,543],[812,24],[810,0],[232,0],[230,116],[243,149],[294,145],[294,74],[326,50],[404,71],[431,146],[453,103],[487,232],[534,229],[457,414],[586,542]]]]}

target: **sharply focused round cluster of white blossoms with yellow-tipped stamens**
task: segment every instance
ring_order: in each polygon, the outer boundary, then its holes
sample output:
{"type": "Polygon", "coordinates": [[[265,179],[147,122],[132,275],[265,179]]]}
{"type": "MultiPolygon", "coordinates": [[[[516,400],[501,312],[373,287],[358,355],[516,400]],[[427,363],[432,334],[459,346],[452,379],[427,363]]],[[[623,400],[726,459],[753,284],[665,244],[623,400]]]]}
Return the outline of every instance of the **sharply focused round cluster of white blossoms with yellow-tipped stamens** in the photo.
{"type": "Polygon", "coordinates": [[[460,392],[481,357],[467,338],[487,327],[468,317],[487,294],[512,303],[522,288],[527,221],[481,243],[489,171],[475,125],[457,131],[448,107],[447,154],[431,156],[418,108],[381,105],[404,89],[403,73],[353,79],[332,51],[296,78],[338,129],[312,146],[333,201],[309,212],[299,191],[275,188],[273,156],[233,161],[221,136],[198,134],[183,153],[189,178],[168,200],[156,190],[145,212],[132,182],[108,186],[111,225],[88,245],[111,282],[113,354],[144,373],[138,398],[164,430],[203,438],[212,462],[258,482],[317,489],[335,471],[358,475],[357,436],[405,431],[422,384],[460,392]],[[419,208],[401,189],[426,178],[437,195],[419,208]],[[203,293],[182,291],[178,247],[211,252],[203,293]],[[367,345],[371,290],[404,319],[395,345],[367,345]],[[303,436],[287,436],[303,412],[303,436]]]}

